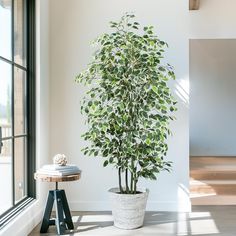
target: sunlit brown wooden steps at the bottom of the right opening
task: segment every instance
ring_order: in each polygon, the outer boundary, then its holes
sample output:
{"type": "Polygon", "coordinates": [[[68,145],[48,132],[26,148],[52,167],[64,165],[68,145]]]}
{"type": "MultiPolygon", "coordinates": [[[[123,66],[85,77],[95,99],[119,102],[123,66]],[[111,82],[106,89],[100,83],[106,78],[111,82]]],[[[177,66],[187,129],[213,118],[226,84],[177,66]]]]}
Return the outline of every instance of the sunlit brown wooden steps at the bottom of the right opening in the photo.
{"type": "Polygon", "coordinates": [[[236,157],[190,157],[193,205],[236,205],[236,157]]]}

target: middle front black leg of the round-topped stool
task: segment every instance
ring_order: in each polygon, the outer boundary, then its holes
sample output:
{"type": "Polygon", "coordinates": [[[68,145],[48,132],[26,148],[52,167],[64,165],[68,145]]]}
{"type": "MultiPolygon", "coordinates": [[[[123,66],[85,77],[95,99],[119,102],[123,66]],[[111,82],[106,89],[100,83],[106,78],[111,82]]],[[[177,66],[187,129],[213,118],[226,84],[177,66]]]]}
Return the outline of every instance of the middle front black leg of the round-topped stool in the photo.
{"type": "Polygon", "coordinates": [[[66,225],[64,221],[63,214],[63,205],[62,205],[62,194],[61,190],[54,190],[54,198],[55,198],[55,208],[56,208],[56,227],[58,234],[64,234],[66,230],[66,225]]]}

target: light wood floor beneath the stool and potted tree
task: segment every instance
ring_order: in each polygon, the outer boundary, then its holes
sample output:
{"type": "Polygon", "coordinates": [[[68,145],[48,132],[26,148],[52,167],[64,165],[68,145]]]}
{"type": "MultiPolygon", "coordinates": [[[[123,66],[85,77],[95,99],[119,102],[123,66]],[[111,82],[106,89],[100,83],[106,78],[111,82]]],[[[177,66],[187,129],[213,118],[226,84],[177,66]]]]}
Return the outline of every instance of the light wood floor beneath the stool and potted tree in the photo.
{"type": "MultiPolygon", "coordinates": [[[[142,228],[121,230],[113,226],[110,212],[73,212],[75,230],[66,235],[90,236],[235,236],[236,206],[194,206],[191,213],[147,212],[142,228]]],[[[38,225],[30,236],[56,235],[54,226],[46,234],[38,225]]]]}

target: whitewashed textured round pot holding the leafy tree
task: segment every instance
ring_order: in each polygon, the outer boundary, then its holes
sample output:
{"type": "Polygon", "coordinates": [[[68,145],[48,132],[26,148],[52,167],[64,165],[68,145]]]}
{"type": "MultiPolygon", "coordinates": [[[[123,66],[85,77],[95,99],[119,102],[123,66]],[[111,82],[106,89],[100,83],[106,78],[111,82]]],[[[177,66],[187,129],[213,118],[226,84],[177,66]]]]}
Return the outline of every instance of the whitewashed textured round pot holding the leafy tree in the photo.
{"type": "Polygon", "coordinates": [[[114,225],[121,229],[136,229],[143,225],[148,189],[138,194],[120,194],[118,188],[109,190],[114,225]]]}

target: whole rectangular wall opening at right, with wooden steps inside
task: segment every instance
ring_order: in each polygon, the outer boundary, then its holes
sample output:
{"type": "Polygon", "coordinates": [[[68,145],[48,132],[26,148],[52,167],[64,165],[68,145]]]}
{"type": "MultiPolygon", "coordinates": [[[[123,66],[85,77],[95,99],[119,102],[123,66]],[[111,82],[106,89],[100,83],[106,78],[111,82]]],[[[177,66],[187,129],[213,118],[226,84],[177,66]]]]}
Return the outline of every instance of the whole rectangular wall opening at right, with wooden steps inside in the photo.
{"type": "Polygon", "coordinates": [[[190,40],[190,197],[236,204],[236,40],[190,40]]]}

